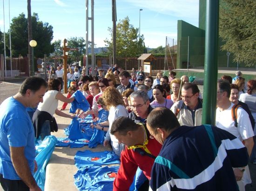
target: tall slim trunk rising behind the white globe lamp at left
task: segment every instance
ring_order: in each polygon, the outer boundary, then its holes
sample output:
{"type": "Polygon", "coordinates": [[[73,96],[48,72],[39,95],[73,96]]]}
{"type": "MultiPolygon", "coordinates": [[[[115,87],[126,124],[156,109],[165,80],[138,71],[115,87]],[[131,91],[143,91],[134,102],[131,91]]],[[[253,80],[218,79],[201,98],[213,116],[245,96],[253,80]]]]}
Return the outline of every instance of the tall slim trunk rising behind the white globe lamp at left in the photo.
{"type": "Polygon", "coordinates": [[[33,59],[32,47],[29,45],[30,40],[32,40],[32,20],[31,20],[31,0],[27,0],[27,31],[28,31],[28,65],[29,65],[29,76],[34,76],[33,71],[33,59]]]}

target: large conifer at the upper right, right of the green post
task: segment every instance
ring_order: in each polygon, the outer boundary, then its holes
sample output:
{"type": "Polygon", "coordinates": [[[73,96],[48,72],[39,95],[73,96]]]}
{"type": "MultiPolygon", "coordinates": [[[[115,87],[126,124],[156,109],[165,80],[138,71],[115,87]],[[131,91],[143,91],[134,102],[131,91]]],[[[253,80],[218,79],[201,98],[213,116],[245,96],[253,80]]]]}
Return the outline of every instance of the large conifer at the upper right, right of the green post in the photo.
{"type": "Polygon", "coordinates": [[[255,0],[222,0],[220,3],[220,37],[223,51],[234,55],[234,62],[248,66],[256,63],[255,0]]]}

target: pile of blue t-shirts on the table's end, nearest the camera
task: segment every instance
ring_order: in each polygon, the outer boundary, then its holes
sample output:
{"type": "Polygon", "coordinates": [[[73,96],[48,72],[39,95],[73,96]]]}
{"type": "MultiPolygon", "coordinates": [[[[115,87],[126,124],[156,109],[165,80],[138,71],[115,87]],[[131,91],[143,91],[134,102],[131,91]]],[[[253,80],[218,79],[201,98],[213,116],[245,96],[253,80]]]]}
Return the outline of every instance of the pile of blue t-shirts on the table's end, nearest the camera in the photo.
{"type": "Polygon", "coordinates": [[[80,191],[112,191],[119,166],[90,166],[74,174],[74,182],[80,191]]]}

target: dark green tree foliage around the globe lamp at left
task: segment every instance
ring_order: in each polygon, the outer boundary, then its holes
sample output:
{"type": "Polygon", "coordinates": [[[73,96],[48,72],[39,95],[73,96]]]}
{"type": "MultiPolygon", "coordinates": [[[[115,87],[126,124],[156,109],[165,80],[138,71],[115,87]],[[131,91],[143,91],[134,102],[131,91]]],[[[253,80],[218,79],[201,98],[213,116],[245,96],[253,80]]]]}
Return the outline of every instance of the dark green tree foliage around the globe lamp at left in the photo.
{"type": "MultiPolygon", "coordinates": [[[[53,39],[53,27],[48,23],[39,21],[38,14],[32,16],[33,39],[37,42],[34,47],[35,57],[44,57],[44,54],[49,54],[54,51],[54,46],[51,45],[53,39]]],[[[18,17],[14,17],[11,23],[11,40],[13,57],[27,56],[28,54],[28,31],[27,18],[21,13],[18,17]]],[[[9,32],[6,34],[6,44],[9,48],[9,32]]]]}

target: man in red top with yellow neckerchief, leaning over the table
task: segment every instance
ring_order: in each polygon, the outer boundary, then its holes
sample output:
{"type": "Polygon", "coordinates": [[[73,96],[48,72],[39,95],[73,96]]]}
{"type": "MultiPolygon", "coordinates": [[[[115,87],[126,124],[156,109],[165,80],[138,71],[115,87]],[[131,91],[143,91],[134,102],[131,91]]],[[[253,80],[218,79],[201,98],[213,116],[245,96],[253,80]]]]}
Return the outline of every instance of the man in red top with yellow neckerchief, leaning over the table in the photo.
{"type": "Polygon", "coordinates": [[[150,180],[151,168],[162,145],[150,137],[142,123],[135,123],[128,117],[119,117],[112,124],[111,134],[126,145],[121,152],[121,165],[114,181],[113,191],[128,191],[137,168],[150,180]]]}

